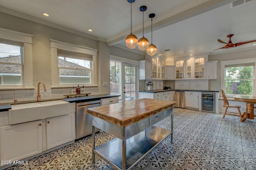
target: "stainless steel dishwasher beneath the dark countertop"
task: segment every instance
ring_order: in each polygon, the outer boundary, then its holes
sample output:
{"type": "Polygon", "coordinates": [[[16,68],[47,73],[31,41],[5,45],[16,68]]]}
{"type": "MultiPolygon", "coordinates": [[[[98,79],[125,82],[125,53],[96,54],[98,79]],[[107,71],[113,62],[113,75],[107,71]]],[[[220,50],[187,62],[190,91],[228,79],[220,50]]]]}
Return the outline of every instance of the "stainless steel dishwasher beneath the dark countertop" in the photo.
{"type": "Polygon", "coordinates": [[[100,100],[76,104],[76,139],[92,134],[92,116],[87,114],[87,109],[97,106],[101,106],[100,100]]]}

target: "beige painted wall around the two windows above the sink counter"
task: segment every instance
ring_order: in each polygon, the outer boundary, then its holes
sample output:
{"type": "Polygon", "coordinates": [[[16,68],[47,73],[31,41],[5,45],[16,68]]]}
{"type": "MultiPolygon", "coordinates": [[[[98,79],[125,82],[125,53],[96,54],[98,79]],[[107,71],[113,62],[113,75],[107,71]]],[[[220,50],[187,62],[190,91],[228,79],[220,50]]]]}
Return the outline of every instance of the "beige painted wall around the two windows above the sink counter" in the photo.
{"type": "Polygon", "coordinates": [[[32,54],[33,54],[33,86],[37,87],[39,81],[43,81],[46,88],[52,86],[51,75],[51,51],[49,39],[81,45],[93,49],[98,49],[97,64],[97,83],[99,85],[99,94],[110,93],[110,86],[103,87],[103,82],[110,84],[109,57],[110,53],[119,57],[132,60],[144,60],[143,55],[133,53],[117,47],[108,47],[102,41],[96,41],[87,37],[76,35],[56,29],[50,26],[42,25],[33,21],[25,20],[0,12],[0,27],[22,33],[32,34],[32,54]],[[101,63],[101,64],[100,64],[101,63]],[[108,64],[104,64],[108,63],[108,64]]]}

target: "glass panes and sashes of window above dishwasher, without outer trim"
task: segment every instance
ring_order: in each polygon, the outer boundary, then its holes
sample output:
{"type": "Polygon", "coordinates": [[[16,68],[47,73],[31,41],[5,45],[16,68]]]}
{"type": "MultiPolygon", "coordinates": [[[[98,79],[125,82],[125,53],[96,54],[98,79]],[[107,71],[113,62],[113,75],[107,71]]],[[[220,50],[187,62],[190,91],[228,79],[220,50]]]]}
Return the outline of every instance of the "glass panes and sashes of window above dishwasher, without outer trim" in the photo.
{"type": "Polygon", "coordinates": [[[58,51],[58,72],[60,84],[92,84],[92,56],[58,51]]]}

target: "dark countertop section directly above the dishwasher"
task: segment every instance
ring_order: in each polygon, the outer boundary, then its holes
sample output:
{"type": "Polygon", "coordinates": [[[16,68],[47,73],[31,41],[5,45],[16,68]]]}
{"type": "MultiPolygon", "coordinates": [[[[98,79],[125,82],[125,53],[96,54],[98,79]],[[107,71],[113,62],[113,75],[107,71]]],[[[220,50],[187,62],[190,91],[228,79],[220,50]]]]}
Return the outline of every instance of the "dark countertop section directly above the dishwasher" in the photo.
{"type": "Polygon", "coordinates": [[[81,103],[81,102],[90,102],[93,100],[100,100],[103,98],[114,98],[114,97],[119,97],[120,95],[117,94],[98,94],[98,95],[92,95],[92,96],[83,96],[83,97],[77,97],[77,98],[65,98],[62,99],[66,102],[70,103],[81,103]]]}

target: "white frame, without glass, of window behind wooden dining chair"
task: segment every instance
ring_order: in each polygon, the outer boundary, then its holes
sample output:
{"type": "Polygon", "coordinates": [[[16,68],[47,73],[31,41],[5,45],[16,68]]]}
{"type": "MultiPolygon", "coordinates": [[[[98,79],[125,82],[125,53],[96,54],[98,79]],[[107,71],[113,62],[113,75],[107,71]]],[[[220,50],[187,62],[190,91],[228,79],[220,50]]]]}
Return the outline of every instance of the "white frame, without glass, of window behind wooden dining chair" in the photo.
{"type": "MultiPolygon", "coordinates": [[[[226,74],[226,69],[225,69],[225,65],[232,65],[232,64],[246,64],[246,63],[255,63],[254,66],[254,77],[253,77],[253,96],[256,96],[256,58],[251,58],[251,59],[238,59],[238,60],[230,60],[230,61],[221,61],[220,62],[220,86],[221,89],[224,90],[224,92],[226,93],[226,86],[225,86],[225,74],[226,74]]],[[[236,96],[237,94],[226,94],[227,98],[233,98],[234,96],[236,96]]]]}

